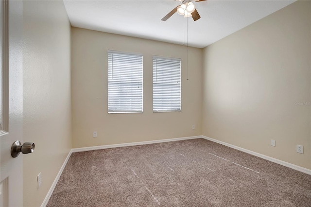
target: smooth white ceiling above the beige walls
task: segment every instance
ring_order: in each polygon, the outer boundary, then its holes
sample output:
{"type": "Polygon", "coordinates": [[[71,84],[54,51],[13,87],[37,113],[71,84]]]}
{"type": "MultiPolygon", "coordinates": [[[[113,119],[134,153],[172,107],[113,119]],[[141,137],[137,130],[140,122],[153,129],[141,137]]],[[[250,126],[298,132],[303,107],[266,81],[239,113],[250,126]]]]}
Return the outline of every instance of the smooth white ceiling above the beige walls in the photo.
{"type": "Polygon", "coordinates": [[[107,33],[204,48],[295,0],[206,0],[193,3],[201,18],[175,13],[175,0],[64,0],[71,25],[107,33]]]}

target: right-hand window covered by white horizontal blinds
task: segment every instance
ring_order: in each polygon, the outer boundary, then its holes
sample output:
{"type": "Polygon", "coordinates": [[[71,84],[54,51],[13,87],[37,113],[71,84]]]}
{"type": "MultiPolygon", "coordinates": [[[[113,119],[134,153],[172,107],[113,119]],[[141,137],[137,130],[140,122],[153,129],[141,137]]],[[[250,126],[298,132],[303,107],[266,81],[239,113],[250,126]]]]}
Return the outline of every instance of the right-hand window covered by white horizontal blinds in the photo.
{"type": "Polygon", "coordinates": [[[181,111],[181,60],[153,56],[153,111],[181,111]]]}

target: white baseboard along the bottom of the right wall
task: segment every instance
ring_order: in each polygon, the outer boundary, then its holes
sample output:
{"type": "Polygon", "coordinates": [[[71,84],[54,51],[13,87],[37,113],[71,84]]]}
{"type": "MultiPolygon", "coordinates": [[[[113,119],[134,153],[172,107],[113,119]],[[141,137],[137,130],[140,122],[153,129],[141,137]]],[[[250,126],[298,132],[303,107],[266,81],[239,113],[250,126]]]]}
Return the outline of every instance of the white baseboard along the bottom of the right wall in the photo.
{"type": "Polygon", "coordinates": [[[285,162],[285,161],[282,161],[282,160],[279,160],[279,159],[276,159],[276,158],[273,158],[273,157],[270,157],[270,156],[267,156],[267,155],[262,155],[262,154],[259,154],[259,153],[256,153],[256,152],[253,152],[253,151],[250,151],[250,150],[246,150],[242,147],[238,147],[238,146],[235,146],[233,144],[228,144],[226,142],[223,142],[223,141],[219,141],[217,139],[213,139],[213,138],[209,138],[209,137],[206,137],[206,136],[201,136],[202,138],[205,138],[207,140],[210,140],[210,141],[213,141],[213,142],[216,142],[216,143],[219,143],[219,144],[222,144],[222,145],[225,145],[227,147],[230,147],[230,148],[233,148],[233,149],[236,149],[236,150],[239,150],[239,151],[242,151],[244,153],[248,153],[250,155],[255,155],[255,156],[258,156],[262,159],[266,159],[266,160],[269,160],[271,162],[275,162],[277,164],[280,164],[280,165],[283,165],[285,167],[288,167],[288,168],[292,168],[296,171],[300,171],[302,173],[306,173],[306,174],[310,174],[311,175],[311,170],[310,169],[307,169],[307,168],[303,168],[303,167],[300,167],[298,165],[294,165],[292,163],[289,163],[289,162],[285,162]]]}

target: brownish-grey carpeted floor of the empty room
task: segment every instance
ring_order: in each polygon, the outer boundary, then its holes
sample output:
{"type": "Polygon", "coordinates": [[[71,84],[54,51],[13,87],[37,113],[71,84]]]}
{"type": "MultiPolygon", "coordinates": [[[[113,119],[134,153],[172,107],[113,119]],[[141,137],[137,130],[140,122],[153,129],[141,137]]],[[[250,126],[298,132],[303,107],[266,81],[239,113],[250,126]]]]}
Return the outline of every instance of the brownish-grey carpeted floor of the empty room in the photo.
{"type": "Polygon", "coordinates": [[[205,140],[73,153],[47,207],[311,207],[311,175],[205,140]]]}

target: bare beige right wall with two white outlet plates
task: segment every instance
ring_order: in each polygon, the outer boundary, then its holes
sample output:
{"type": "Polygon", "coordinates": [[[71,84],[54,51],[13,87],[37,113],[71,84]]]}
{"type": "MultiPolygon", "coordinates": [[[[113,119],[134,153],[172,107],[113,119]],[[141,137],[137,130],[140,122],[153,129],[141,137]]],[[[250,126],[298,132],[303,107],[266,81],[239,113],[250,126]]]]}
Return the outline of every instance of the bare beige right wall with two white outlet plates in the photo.
{"type": "Polygon", "coordinates": [[[205,48],[203,135],[311,169],[310,28],[298,1],[205,48]]]}

